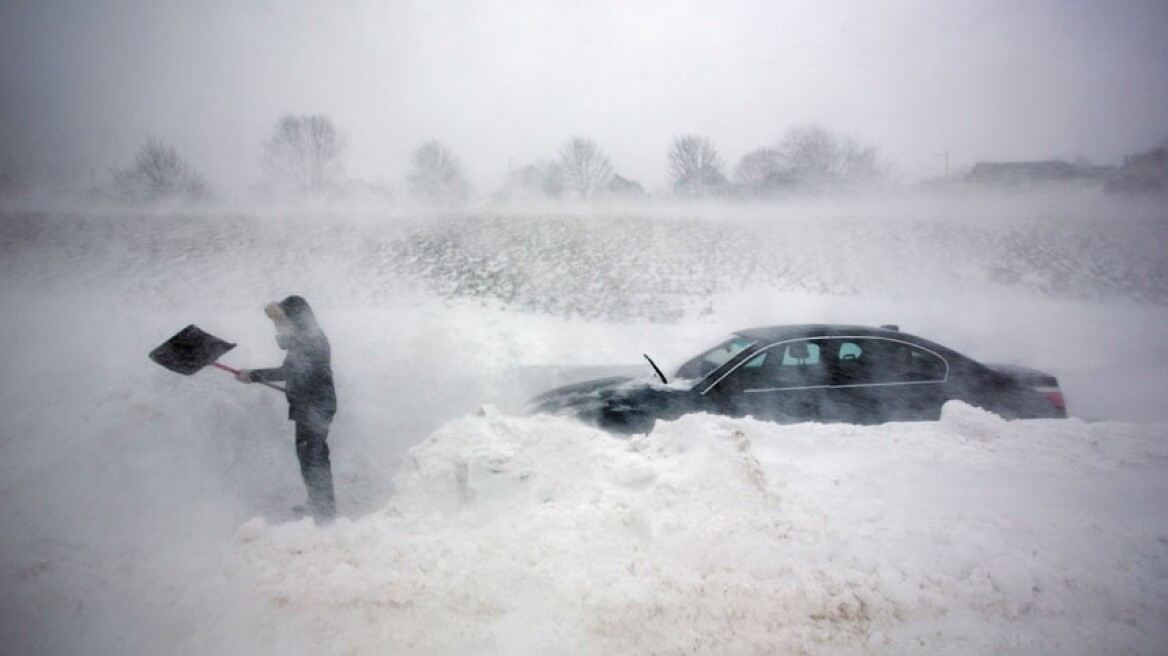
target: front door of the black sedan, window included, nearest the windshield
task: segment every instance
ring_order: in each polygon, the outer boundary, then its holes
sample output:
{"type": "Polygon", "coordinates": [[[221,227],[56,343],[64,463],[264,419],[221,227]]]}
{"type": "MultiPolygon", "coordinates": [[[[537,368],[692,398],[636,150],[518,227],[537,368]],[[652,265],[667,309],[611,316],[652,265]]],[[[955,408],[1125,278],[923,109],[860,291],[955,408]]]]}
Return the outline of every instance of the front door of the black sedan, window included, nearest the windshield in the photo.
{"type": "Polygon", "coordinates": [[[820,420],[832,381],[823,340],[788,340],[763,347],[707,392],[723,412],[769,421],[820,420]]]}

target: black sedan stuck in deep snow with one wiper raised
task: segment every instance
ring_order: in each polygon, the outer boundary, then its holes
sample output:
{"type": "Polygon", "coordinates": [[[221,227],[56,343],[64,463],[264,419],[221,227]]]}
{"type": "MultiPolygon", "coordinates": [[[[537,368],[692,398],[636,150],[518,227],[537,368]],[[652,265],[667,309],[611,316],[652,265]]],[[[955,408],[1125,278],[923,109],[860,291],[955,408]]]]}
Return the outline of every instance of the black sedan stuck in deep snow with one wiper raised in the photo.
{"type": "Polygon", "coordinates": [[[672,381],[653,369],[660,382],[568,385],[534,398],[531,409],[621,433],[646,432],[656,419],[690,412],[780,423],[936,420],[948,400],[1007,419],[1066,417],[1054,376],[982,364],[895,326],[752,328],[694,357],[672,381]]]}

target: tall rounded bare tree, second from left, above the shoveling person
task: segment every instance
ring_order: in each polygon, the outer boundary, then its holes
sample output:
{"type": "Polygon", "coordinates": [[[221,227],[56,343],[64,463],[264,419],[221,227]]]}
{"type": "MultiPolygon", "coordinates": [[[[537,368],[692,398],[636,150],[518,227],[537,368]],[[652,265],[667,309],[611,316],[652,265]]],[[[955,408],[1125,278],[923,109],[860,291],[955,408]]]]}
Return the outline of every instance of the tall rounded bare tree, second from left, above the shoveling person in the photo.
{"type": "Polygon", "coordinates": [[[272,181],[304,196],[335,188],[345,144],[325,114],[287,114],[264,142],[264,166],[272,181]]]}

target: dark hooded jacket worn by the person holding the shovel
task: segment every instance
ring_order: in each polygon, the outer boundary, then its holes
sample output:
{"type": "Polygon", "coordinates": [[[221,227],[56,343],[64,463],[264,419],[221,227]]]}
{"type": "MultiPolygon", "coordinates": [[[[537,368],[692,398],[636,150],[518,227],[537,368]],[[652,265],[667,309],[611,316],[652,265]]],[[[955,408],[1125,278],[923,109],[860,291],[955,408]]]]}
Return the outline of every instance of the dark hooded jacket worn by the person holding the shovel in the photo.
{"type": "Polygon", "coordinates": [[[331,421],[336,413],[332,349],[308,301],[288,296],[264,309],[276,322],[276,341],[287,355],[280,367],[253,369],[251,379],[257,383],[284,381],[288,419],[331,421]]]}

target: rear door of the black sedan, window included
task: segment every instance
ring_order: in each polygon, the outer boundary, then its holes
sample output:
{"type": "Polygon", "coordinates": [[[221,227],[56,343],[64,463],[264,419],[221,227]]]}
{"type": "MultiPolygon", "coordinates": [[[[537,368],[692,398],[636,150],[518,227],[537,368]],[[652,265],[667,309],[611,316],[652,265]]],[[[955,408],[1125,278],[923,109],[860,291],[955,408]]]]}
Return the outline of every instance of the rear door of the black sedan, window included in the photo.
{"type": "Polygon", "coordinates": [[[946,360],[888,337],[839,337],[832,399],[839,420],[856,424],[937,419],[946,400],[946,360]]]}

